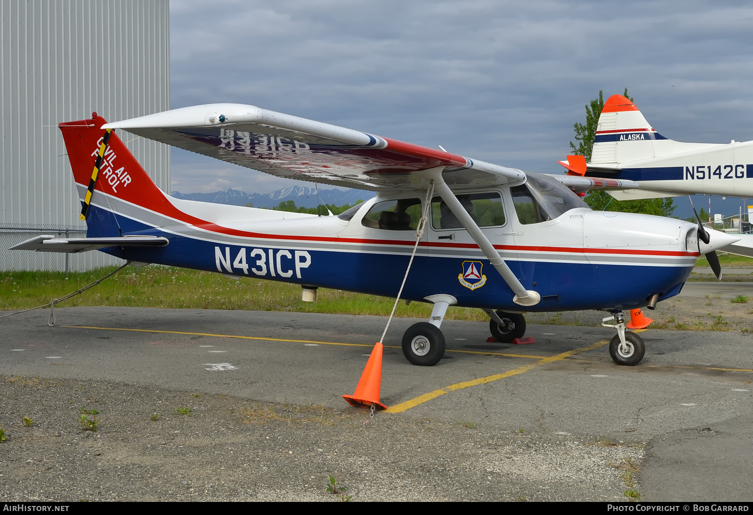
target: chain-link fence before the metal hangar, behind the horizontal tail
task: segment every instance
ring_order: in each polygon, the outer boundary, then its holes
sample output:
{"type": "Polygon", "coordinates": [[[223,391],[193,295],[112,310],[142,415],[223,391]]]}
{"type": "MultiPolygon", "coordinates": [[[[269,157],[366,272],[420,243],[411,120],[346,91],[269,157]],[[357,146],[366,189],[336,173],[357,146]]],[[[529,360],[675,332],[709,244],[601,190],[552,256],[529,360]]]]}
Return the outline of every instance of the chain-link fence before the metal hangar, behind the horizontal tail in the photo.
{"type": "Polygon", "coordinates": [[[125,261],[99,251],[68,254],[62,252],[35,252],[8,250],[13,245],[41,234],[61,238],[84,238],[85,226],[30,224],[0,224],[0,272],[47,270],[51,272],[88,272],[102,267],[119,267],[125,261]]]}

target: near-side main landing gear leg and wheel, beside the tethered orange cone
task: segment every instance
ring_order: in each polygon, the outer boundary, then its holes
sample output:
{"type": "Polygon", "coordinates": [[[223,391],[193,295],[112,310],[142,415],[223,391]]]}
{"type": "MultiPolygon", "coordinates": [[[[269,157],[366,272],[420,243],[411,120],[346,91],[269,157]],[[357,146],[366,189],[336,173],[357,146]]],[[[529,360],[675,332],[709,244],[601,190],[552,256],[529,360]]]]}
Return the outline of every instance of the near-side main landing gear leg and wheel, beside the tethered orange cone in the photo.
{"type": "Polygon", "coordinates": [[[430,295],[425,300],[434,303],[428,322],[413,324],[403,335],[403,354],[413,364],[431,367],[444,356],[444,334],[440,326],[449,306],[458,301],[452,295],[430,295]]]}

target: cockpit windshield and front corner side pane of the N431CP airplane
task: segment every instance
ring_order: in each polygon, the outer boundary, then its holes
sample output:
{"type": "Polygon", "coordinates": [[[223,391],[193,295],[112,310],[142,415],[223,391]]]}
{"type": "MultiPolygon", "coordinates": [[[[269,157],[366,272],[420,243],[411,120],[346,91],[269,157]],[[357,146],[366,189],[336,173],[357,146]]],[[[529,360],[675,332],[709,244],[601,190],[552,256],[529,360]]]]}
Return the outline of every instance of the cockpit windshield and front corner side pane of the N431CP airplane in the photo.
{"type": "Polygon", "coordinates": [[[526,184],[510,188],[515,211],[521,224],[553,220],[570,209],[590,209],[568,187],[539,173],[528,173],[526,184]]]}

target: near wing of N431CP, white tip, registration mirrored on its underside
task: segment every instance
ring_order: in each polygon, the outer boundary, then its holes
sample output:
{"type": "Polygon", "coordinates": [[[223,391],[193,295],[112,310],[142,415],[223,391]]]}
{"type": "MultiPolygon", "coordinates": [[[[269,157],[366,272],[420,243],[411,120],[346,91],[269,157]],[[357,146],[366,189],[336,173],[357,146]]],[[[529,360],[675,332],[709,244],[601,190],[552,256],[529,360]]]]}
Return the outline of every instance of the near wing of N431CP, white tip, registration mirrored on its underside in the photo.
{"type": "Polygon", "coordinates": [[[306,120],[255,105],[208,104],[106,123],[279,177],[363,190],[420,187],[417,170],[444,166],[450,187],[521,184],[518,169],[306,120]]]}

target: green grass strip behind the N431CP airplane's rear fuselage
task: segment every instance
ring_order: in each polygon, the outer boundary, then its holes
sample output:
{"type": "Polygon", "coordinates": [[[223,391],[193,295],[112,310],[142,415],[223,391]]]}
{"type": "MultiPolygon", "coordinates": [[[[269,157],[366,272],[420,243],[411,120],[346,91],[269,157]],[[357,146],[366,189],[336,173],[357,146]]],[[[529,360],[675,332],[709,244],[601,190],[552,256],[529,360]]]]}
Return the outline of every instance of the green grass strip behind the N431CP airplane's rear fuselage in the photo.
{"type": "MultiPolygon", "coordinates": [[[[29,309],[81,288],[114,267],[86,273],[3,272],[0,273],[0,310],[29,309]]],[[[319,288],[316,302],[300,300],[300,286],[264,279],[236,281],[215,272],[151,265],[138,272],[132,267],[59,304],[69,306],[133,306],[188,309],[250,309],[340,313],[346,315],[389,315],[394,299],[319,288]]],[[[396,316],[428,318],[431,304],[401,302],[396,316]]],[[[450,306],[445,318],[487,321],[480,309],[450,306]]]]}

